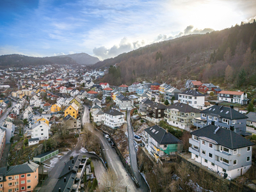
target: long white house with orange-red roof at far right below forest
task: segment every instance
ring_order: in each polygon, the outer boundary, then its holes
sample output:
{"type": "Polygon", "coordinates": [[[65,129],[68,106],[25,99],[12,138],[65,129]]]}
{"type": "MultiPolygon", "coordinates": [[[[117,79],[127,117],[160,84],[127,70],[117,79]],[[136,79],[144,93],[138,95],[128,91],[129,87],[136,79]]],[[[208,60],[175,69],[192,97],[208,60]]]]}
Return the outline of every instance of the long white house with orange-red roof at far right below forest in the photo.
{"type": "Polygon", "coordinates": [[[218,100],[225,102],[234,102],[239,104],[247,104],[247,94],[244,92],[230,92],[230,91],[221,91],[218,94],[218,100]]]}

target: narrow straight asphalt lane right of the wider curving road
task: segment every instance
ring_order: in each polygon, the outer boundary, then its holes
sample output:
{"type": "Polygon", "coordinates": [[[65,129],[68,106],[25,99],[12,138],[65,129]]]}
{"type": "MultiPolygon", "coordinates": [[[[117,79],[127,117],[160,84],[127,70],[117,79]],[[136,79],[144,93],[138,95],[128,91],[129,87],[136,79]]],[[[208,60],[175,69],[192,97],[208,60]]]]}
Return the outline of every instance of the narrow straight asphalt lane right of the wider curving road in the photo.
{"type": "Polygon", "coordinates": [[[136,151],[134,147],[134,140],[133,140],[133,131],[132,131],[132,126],[131,126],[131,115],[130,111],[127,111],[127,129],[128,129],[128,140],[129,140],[129,155],[130,155],[130,163],[131,163],[131,168],[134,172],[134,175],[136,179],[138,180],[140,184],[140,189],[141,191],[149,191],[147,183],[141,176],[138,166],[137,166],[137,157],[136,157],[136,151]]]}

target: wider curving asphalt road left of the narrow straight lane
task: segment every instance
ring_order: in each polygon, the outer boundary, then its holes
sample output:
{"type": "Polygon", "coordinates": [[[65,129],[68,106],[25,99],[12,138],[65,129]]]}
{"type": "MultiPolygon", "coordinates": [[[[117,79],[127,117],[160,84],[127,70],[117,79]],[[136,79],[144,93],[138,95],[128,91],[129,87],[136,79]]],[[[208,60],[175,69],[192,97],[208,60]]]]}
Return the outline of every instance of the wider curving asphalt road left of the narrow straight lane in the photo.
{"type": "Polygon", "coordinates": [[[90,124],[90,111],[88,110],[88,106],[84,106],[84,115],[83,115],[83,125],[86,125],[86,128],[93,132],[93,134],[97,135],[102,143],[102,150],[104,151],[104,155],[106,156],[108,165],[113,171],[116,173],[118,177],[118,181],[120,184],[125,188],[127,186],[127,191],[143,191],[141,188],[136,188],[132,178],[127,174],[120,158],[116,154],[115,148],[112,148],[104,135],[99,132],[95,131],[90,124]]]}

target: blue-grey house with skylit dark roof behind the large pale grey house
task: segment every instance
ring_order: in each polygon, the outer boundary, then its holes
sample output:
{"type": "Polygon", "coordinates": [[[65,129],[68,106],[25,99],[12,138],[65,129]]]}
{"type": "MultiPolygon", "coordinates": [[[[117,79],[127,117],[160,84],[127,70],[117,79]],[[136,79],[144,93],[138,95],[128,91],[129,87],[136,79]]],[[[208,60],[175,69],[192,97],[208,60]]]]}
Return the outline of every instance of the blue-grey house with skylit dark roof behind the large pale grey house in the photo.
{"type": "Polygon", "coordinates": [[[233,106],[212,106],[200,112],[201,117],[194,118],[194,125],[196,127],[205,127],[206,125],[216,125],[226,129],[231,129],[237,134],[248,135],[250,133],[246,132],[246,118],[245,116],[235,109],[233,106]]]}

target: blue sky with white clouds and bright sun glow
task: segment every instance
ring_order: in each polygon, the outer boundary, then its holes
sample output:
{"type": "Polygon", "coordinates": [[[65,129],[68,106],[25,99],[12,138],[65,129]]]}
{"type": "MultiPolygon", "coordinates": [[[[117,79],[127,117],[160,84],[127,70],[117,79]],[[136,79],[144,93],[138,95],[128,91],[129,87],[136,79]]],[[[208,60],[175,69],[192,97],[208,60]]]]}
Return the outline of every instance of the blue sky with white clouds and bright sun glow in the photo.
{"type": "Polygon", "coordinates": [[[0,55],[100,60],[256,19],[255,0],[1,0],[0,55]]]}

